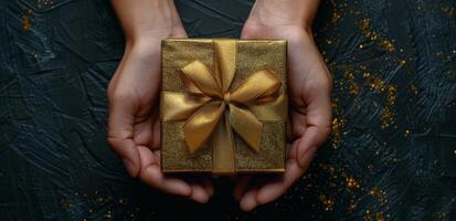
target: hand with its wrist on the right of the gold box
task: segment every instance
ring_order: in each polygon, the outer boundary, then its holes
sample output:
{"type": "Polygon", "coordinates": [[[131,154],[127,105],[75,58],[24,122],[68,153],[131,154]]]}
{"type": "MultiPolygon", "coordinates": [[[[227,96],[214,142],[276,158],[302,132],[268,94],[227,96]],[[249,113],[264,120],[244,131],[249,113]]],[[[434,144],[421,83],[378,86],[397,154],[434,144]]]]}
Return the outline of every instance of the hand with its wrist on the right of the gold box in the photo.
{"type": "MultiPolygon", "coordinates": [[[[309,13],[316,11],[317,7],[314,6],[314,0],[301,1],[307,3],[305,9],[297,6],[287,8],[289,2],[257,0],[241,34],[243,39],[288,40],[289,115],[293,131],[283,176],[259,181],[259,185],[258,180],[252,180],[250,176],[240,177],[236,181],[234,197],[240,199],[241,208],[245,211],[284,194],[308,169],[318,147],[330,133],[331,75],[314,42],[309,21],[312,18],[309,13]],[[306,10],[307,14],[296,14],[306,10]],[[250,187],[251,183],[257,185],[250,187]]],[[[293,3],[296,2],[298,1],[293,0],[293,3]]]]}

